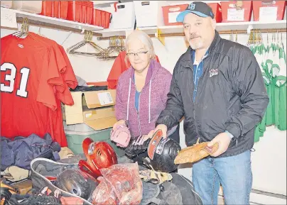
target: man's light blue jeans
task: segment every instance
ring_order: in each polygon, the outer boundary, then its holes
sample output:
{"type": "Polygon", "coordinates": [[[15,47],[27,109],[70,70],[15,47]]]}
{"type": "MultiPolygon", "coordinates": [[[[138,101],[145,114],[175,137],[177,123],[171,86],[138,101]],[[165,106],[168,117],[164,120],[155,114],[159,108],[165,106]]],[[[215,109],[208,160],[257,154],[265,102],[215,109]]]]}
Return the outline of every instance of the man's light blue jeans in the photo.
{"type": "Polygon", "coordinates": [[[231,157],[210,157],[194,163],[193,183],[204,205],[217,204],[220,184],[225,204],[249,204],[252,187],[250,150],[231,157]]]}

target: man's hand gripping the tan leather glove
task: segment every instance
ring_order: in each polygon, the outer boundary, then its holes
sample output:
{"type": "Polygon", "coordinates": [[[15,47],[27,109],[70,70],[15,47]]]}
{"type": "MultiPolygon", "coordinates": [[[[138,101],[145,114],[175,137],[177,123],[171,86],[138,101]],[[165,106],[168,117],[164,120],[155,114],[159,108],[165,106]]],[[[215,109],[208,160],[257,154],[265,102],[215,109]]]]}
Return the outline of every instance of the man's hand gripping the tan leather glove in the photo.
{"type": "Polygon", "coordinates": [[[230,141],[231,141],[231,138],[229,137],[227,133],[220,133],[219,135],[217,135],[213,140],[211,140],[207,144],[208,147],[212,147],[212,145],[214,145],[215,143],[218,143],[219,145],[218,150],[215,153],[213,153],[211,156],[217,157],[221,155],[222,153],[225,153],[229,146],[230,141]]]}

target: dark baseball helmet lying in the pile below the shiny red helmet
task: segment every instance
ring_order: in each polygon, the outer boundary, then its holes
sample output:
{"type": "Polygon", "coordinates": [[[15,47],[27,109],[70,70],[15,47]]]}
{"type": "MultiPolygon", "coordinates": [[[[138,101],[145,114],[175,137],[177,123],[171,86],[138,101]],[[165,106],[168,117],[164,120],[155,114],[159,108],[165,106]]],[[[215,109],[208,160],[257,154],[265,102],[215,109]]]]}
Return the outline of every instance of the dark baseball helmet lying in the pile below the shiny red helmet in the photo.
{"type": "Polygon", "coordinates": [[[86,200],[90,199],[92,192],[98,185],[96,179],[89,174],[72,169],[60,173],[54,184],[59,189],[86,200]]]}

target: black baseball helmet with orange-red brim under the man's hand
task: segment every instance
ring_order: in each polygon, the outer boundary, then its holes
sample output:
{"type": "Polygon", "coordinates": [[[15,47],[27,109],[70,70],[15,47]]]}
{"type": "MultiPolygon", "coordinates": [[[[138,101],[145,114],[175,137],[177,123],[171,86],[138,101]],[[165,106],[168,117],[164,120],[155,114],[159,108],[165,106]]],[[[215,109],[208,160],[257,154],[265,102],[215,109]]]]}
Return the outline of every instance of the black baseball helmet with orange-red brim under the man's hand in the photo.
{"type": "Polygon", "coordinates": [[[158,172],[173,172],[178,168],[174,159],[181,150],[180,145],[172,138],[163,138],[161,130],[153,134],[148,144],[148,157],[153,170],[158,172]]]}

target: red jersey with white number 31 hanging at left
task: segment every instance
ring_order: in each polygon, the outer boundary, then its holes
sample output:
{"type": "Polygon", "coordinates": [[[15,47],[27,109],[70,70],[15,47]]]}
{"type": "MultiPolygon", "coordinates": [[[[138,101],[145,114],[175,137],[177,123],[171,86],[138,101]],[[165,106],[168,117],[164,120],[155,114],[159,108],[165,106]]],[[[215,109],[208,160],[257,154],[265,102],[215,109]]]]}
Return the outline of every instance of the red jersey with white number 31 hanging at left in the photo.
{"type": "Polygon", "coordinates": [[[42,137],[50,133],[62,147],[67,146],[60,100],[67,104],[73,101],[65,72],[58,69],[62,64],[65,70],[66,61],[53,47],[40,43],[37,35],[1,38],[2,136],[35,133],[42,137]]]}

